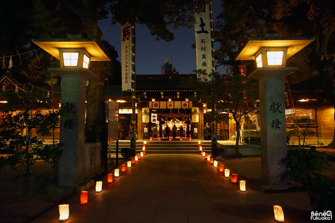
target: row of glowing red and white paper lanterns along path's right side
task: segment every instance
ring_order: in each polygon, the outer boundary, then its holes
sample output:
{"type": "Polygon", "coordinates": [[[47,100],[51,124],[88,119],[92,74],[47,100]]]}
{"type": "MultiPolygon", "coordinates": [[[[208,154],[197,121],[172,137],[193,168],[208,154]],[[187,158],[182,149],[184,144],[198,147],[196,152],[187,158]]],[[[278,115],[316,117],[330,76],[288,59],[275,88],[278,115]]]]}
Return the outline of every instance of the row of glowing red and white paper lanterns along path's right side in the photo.
{"type": "MultiPolygon", "coordinates": [[[[201,146],[201,142],[199,141],[199,150],[200,153],[203,157],[205,157],[205,159],[207,159],[207,161],[209,161],[209,163],[213,164],[214,167],[217,167],[218,162],[216,160],[214,160],[213,158],[211,158],[209,156],[209,154],[206,154],[205,152],[202,151],[202,146],[201,146]]],[[[229,177],[230,174],[230,170],[229,169],[224,169],[224,165],[223,164],[219,164],[219,172],[223,172],[224,171],[224,176],[225,177],[229,177]]],[[[236,183],[237,182],[237,176],[238,174],[231,174],[231,182],[232,183],[236,183]]],[[[246,181],[245,180],[240,180],[240,190],[242,192],[246,191],[246,181]]],[[[274,205],[273,206],[273,212],[274,212],[274,217],[275,220],[277,222],[284,222],[284,213],[283,213],[283,209],[281,208],[281,206],[279,205],[274,205]]]]}

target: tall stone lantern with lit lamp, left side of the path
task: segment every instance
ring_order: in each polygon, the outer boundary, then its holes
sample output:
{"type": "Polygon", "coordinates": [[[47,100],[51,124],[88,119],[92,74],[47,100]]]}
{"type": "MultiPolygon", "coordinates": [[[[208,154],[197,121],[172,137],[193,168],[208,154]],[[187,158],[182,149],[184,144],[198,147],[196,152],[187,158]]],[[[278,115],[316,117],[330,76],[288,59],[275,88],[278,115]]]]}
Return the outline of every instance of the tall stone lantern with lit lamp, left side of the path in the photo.
{"type": "MultiPolygon", "coordinates": [[[[60,60],[60,68],[49,68],[62,77],[58,185],[75,186],[84,180],[86,81],[98,80],[89,69],[91,61],[110,59],[95,41],[80,38],[35,39],[33,43],[60,60]]],[[[100,147],[101,148],[101,147],[100,147]]],[[[98,160],[100,161],[100,157],[98,160]]]]}

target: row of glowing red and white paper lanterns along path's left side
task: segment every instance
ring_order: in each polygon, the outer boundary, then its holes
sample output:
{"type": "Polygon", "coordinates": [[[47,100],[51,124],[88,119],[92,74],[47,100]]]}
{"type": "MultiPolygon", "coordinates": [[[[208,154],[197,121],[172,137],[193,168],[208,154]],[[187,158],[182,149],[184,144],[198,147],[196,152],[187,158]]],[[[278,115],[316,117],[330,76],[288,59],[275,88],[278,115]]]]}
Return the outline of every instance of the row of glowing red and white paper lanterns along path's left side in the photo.
{"type": "MultiPolygon", "coordinates": [[[[127,162],[127,167],[130,168],[131,164],[134,164],[135,161],[138,161],[145,155],[145,146],[146,146],[146,141],[143,143],[142,151],[139,154],[135,155],[134,158],[131,159],[131,161],[127,162]]],[[[119,171],[120,169],[114,169],[114,177],[119,177],[119,171]]],[[[126,164],[121,165],[121,171],[125,172],[126,171],[126,164]]],[[[113,173],[109,173],[107,175],[107,182],[112,183],[113,182],[113,173]]],[[[95,192],[100,193],[102,191],[102,181],[96,181],[95,182],[95,192]]],[[[88,202],[88,191],[81,191],[80,193],[80,204],[87,204],[88,202]]],[[[64,222],[69,218],[69,205],[68,204],[62,204],[58,205],[59,209],[59,221],[64,222]]]]}

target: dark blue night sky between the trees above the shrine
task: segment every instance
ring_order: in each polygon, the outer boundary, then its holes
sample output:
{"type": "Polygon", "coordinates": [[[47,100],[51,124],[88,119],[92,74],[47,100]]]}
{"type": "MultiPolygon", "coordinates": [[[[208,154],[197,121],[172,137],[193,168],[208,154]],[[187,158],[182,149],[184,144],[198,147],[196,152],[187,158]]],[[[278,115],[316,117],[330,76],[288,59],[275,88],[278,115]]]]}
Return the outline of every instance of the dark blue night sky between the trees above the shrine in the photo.
{"type": "MultiPolygon", "coordinates": [[[[213,20],[221,12],[221,1],[213,0],[213,20]]],[[[99,27],[103,31],[103,39],[115,46],[121,61],[121,31],[120,24],[110,25],[110,19],[99,21],[99,27]]],[[[195,49],[191,45],[195,42],[194,27],[188,29],[179,27],[174,30],[175,39],[169,43],[163,40],[156,41],[156,36],[150,35],[148,28],[136,24],[136,74],[160,74],[160,67],[168,58],[170,64],[176,68],[179,74],[191,74],[196,69],[195,49]]],[[[214,49],[218,46],[214,45],[214,49]]],[[[218,68],[218,71],[222,71],[218,68]]]]}

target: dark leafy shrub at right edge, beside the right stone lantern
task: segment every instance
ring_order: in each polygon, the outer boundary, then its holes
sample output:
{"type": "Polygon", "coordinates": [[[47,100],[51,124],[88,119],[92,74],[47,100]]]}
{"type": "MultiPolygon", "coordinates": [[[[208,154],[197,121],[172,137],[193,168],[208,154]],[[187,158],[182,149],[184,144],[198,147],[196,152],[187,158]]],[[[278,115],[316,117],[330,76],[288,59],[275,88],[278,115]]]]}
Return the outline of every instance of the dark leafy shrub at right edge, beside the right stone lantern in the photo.
{"type": "Polygon", "coordinates": [[[326,152],[313,148],[287,151],[290,179],[301,182],[308,189],[311,205],[320,211],[335,208],[335,182],[321,174],[327,166],[329,163],[326,152]]]}

